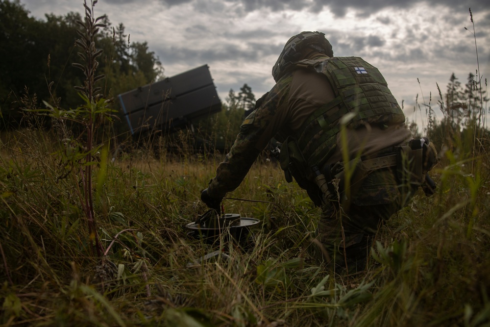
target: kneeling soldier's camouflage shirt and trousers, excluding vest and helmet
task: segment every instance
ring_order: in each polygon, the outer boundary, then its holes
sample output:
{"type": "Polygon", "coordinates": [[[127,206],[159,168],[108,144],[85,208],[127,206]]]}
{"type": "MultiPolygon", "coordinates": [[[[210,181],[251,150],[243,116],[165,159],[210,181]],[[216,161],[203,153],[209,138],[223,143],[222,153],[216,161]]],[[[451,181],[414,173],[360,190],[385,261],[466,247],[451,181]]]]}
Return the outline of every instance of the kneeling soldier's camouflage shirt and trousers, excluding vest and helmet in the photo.
{"type": "MultiPolygon", "coordinates": [[[[315,53],[310,58],[321,56],[315,53]]],[[[280,78],[270,92],[256,102],[254,111],[244,120],[233,147],[218,166],[216,177],[208,186],[209,196],[221,199],[227,192],[235,190],[272,137],[282,142],[289,135],[297,134],[319,107],[334,99],[335,93],[329,80],[315,71],[298,68],[280,78]]],[[[411,132],[405,124],[360,126],[347,128],[346,132],[351,157],[358,151],[362,151],[365,156],[386,151],[411,138],[411,132]]],[[[335,151],[326,162],[317,164],[323,166],[342,161],[340,135],[337,135],[336,143],[335,151]]],[[[310,198],[322,209],[317,238],[326,251],[319,253],[324,254],[323,259],[332,261],[335,258],[335,262],[341,265],[344,252],[349,260],[357,260],[359,252],[364,257],[369,245],[368,236],[410,197],[410,192],[402,194],[397,187],[392,168],[369,174],[354,195],[349,210],[341,210],[338,201],[319,203],[312,196],[319,191],[313,182],[306,187],[300,186],[308,191],[310,198]]]]}

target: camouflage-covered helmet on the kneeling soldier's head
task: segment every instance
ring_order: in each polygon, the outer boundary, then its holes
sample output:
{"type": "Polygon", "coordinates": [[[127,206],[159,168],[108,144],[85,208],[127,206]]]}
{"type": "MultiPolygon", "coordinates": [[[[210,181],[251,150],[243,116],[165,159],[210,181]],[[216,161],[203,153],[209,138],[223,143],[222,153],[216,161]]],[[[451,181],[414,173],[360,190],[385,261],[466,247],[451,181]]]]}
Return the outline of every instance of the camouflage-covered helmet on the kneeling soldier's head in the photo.
{"type": "Polygon", "coordinates": [[[272,77],[277,82],[287,71],[292,62],[299,61],[304,55],[303,50],[317,50],[329,57],[333,57],[332,45],[321,32],[301,32],[294,35],[284,46],[274,67],[272,77]]]}

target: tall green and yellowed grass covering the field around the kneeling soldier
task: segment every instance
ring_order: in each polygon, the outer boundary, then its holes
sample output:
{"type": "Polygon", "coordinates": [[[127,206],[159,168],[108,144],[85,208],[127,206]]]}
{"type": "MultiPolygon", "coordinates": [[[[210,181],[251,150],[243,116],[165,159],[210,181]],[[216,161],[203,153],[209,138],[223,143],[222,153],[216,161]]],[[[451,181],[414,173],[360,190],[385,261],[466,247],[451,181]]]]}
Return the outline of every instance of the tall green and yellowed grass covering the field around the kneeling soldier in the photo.
{"type": "Polygon", "coordinates": [[[31,127],[0,138],[1,326],[490,324],[488,147],[456,138],[433,171],[438,193],[419,191],[376,235],[367,271],[351,276],[307,251],[319,209],[274,162],[255,163],[224,200],[226,212],[261,221],[243,249],[191,239],[184,227],[207,209],[199,194],[220,153],[190,154],[183,133],[177,155],[100,155],[87,160],[99,258],[84,179],[67,171],[66,143],[33,111],[31,127]]]}

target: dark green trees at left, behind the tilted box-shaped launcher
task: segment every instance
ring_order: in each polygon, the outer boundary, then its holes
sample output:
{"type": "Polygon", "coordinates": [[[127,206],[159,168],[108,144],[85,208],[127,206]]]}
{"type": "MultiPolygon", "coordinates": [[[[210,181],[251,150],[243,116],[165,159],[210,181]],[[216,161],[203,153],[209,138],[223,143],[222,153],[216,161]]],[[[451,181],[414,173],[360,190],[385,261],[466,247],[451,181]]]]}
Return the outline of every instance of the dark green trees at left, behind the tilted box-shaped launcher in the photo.
{"type": "MultiPolygon", "coordinates": [[[[19,0],[0,0],[0,129],[22,124],[25,102],[47,101],[63,108],[76,107],[80,98],[74,86],[82,85],[83,73],[72,64],[79,61],[79,13],[46,14],[45,20],[29,16],[19,0]]],[[[113,26],[108,17],[96,36],[103,51],[98,82],[108,98],[163,77],[164,69],[147,42],[130,42],[123,23],[113,26]]]]}

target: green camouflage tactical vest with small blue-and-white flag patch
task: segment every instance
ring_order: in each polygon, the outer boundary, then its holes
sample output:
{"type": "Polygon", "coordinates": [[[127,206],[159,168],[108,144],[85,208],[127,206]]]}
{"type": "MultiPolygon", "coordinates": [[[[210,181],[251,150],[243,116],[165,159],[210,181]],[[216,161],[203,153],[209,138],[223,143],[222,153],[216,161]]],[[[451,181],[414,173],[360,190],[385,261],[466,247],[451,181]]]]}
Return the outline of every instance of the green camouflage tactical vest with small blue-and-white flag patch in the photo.
{"type": "MultiPolygon", "coordinates": [[[[336,98],[319,107],[293,135],[308,166],[323,165],[336,147],[340,119],[347,126],[404,123],[405,115],[377,68],[359,57],[305,59],[296,67],[314,69],[330,81],[336,98]]],[[[307,167],[309,168],[309,167],[307,167]]]]}

